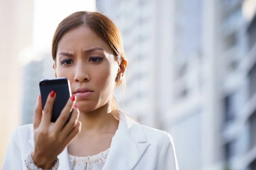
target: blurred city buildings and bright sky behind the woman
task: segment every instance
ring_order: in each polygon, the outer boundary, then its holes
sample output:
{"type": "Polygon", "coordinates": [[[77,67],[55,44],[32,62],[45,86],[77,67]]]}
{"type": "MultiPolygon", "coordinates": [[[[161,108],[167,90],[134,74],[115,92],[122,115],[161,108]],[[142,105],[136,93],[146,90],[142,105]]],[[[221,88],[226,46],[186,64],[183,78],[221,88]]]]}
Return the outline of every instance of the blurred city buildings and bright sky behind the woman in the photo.
{"type": "Polygon", "coordinates": [[[116,99],[172,135],[180,170],[256,170],[256,0],[0,0],[0,167],[54,78],[55,28],[84,10],[120,29],[128,88],[116,99]]]}

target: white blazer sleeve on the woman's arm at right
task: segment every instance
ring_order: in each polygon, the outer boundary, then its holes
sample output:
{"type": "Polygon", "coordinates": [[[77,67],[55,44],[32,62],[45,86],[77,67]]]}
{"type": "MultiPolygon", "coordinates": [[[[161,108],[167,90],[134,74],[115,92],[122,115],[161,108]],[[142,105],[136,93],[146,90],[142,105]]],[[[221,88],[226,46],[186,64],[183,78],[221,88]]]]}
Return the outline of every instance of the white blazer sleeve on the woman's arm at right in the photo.
{"type": "Polygon", "coordinates": [[[164,139],[156,170],[179,170],[172,136],[169,133],[164,139]]]}

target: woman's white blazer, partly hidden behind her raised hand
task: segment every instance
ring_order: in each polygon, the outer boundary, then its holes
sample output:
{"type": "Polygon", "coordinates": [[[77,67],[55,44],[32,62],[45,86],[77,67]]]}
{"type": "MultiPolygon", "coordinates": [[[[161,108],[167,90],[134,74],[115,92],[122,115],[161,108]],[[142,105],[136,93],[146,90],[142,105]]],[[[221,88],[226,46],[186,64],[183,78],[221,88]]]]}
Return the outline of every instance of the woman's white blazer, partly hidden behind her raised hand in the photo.
{"type": "MultiPolygon", "coordinates": [[[[17,127],[7,148],[3,170],[27,170],[26,156],[34,149],[33,125],[17,127]]],[[[58,170],[70,170],[67,147],[58,155],[58,170]]],[[[178,170],[172,136],[140,125],[121,114],[102,170],[178,170]]]]}

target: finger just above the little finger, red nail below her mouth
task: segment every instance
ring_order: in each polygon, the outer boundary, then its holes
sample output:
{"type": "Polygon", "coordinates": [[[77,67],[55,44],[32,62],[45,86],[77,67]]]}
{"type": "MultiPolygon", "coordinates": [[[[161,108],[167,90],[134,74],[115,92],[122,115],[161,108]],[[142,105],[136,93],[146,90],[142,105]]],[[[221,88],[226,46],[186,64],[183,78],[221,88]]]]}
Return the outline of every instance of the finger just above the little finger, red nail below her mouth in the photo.
{"type": "Polygon", "coordinates": [[[74,127],[76,127],[79,114],[79,110],[77,108],[73,108],[69,122],[61,130],[61,136],[63,136],[63,139],[67,137],[67,135],[73,130],[74,127]]]}

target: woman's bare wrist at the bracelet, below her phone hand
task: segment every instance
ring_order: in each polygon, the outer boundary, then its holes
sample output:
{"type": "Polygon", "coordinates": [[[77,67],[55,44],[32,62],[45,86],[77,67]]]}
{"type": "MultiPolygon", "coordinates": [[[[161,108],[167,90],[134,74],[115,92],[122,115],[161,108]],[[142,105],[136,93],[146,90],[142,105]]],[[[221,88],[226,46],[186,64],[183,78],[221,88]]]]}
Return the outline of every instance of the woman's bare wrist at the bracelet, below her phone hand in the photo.
{"type": "Polygon", "coordinates": [[[44,156],[40,156],[35,152],[31,153],[31,157],[34,161],[34,164],[43,170],[51,169],[54,166],[55,161],[57,159],[49,159],[49,157],[46,158],[44,156]]]}

